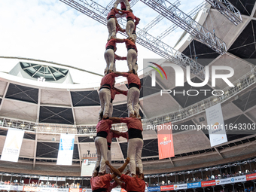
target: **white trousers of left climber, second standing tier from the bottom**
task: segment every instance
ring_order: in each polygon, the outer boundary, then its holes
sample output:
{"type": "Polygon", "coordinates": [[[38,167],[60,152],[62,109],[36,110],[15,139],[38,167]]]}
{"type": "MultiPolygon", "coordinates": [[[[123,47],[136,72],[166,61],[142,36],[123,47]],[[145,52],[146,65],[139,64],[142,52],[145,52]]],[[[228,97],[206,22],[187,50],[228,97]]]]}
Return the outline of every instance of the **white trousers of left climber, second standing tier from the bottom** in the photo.
{"type": "Polygon", "coordinates": [[[99,114],[103,111],[103,115],[108,116],[108,108],[109,108],[109,103],[111,99],[111,93],[110,90],[107,88],[103,88],[99,90],[99,102],[100,102],[100,111],[99,114]]]}

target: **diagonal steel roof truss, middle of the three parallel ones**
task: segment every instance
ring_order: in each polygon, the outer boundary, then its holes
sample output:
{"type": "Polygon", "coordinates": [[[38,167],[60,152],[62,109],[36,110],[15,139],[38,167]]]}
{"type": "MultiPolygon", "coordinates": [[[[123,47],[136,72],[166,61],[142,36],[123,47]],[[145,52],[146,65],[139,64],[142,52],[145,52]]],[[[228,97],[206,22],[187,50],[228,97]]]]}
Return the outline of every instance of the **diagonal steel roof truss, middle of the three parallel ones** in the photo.
{"type": "Polygon", "coordinates": [[[160,4],[156,0],[141,0],[141,2],[145,3],[145,5],[148,5],[159,14],[162,14],[168,20],[172,21],[172,23],[175,23],[175,25],[179,26],[181,29],[184,29],[185,32],[192,35],[193,38],[196,38],[198,41],[206,44],[217,53],[223,55],[227,52],[227,47],[224,41],[222,41],[212,32],[209,32],[208,29],[201,26],[189,15],[185,14],[178,8],[168,10],[169,6],[173,5],[167,0],[163,2],[163,4],[160,4]]]}

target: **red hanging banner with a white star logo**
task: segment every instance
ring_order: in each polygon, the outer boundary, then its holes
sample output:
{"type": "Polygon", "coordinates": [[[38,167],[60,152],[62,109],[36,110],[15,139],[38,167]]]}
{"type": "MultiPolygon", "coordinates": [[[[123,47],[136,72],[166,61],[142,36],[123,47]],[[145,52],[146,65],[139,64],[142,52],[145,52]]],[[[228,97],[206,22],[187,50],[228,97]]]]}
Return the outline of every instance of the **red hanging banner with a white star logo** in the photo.
{"type": "Polygon", "coordinates": [[[174,157],[172,123],[164,123],[157,126],[159,159],[174,157]]]}

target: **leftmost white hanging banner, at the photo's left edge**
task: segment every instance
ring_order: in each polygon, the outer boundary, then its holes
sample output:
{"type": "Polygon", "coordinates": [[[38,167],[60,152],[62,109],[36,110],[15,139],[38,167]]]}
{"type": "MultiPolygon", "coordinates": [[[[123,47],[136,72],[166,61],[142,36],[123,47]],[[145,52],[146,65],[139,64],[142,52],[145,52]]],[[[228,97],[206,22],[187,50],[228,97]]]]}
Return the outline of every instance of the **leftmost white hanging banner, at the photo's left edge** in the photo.
{"type": "Polygon", "coordinates": [[[1,160],[18,162],[20,155],[20,148],[23,142],[24,131],[18,129],[9,129],[5,145],[2,151],[1,160]]]}

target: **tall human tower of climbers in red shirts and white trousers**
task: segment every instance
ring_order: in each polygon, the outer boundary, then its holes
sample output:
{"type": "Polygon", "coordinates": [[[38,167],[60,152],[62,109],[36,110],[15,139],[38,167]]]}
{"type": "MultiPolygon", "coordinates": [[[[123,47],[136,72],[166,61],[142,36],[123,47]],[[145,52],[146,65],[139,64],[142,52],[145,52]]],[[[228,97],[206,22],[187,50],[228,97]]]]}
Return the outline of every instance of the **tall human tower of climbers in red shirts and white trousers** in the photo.
{"type": "Polygon", "coordinates": [[[130,9],[130,0],[117,0],[107,16],[108,42],[105,45],[105,76],[102,78],[99,99],[101,109],[99,111],[99,122],[96,126],[95,146],[97,151],[97,162],[93,171],[90,184],[93,192],[111,191],[113,187],[121,185],[126,191],[145,191],[145,181],[142,166],[142,121],[139,116],[139,93],[141,82],[137,75],[137,47],[136,47],[136,25],[139,24],[133,11],[130,9]],[[121,9],[117,9],[120,4],[121,9]],[[122,29],[117,23],[117,17],[126,17],[126,29],[122,29]],[[126,32],[128,38],[117,38],[117,32],[126,32]],[[125,43],[127,48],[126,56],[117,56],[117,43],[125,43]],[[127,61],[129,72],[116,72],[115,61],[127,61]],[[129,90],[118,90],[114,87],[114,78],[123,76],[127,78],[129,90]],[[127,96],[128,117],[112,117],[113,100],[116,94],[127,96]],[[128,131],[125,133],[111,130],[113,123],[126,123],[128,131]],[[128,141],[127,159],[123,166],[115,169],[111,166],[111,140],[114,137],[124,137],[128,141]],[[130,163],[130,171],[122,174],[123,170],[130,163]],[[107,165],[107,166],[106,166],[107,165]],[[111,172],[111,173],[110,173],[111,172]],[[117,178],[120,176],[120,179],[117,178]],[[114,182],[111,180],[114,178],[114,182]]]}

